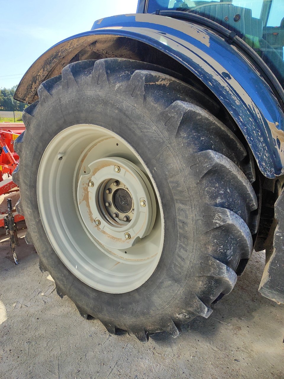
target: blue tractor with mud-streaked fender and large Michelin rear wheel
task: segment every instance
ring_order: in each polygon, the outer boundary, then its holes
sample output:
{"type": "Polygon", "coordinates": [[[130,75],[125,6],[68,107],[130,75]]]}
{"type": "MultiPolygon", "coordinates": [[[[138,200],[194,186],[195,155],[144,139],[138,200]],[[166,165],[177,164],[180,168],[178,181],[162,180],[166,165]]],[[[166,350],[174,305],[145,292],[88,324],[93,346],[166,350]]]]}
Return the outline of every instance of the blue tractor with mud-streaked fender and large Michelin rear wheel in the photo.
{"type": "Polygon", "coordinates": [[[283,17],[282,0],[140,0],[20,81],[17,211],[84,318],[177,337],[253,249],[284,303],[283,17]]]}

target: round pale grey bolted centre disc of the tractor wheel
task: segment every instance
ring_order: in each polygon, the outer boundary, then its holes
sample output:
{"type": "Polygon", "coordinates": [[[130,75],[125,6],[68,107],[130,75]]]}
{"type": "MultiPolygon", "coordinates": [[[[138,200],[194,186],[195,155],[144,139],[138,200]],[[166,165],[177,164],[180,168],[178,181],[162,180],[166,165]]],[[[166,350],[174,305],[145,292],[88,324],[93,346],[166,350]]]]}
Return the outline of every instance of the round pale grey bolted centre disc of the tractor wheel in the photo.
{"type": "Polygon", "coordinates": [[[156,218],[154,192],[146,175],[119,157],[101,158],[88,167],[77,192],[87,229],[111,249],[134,246],[151,232],[156,218]]]}

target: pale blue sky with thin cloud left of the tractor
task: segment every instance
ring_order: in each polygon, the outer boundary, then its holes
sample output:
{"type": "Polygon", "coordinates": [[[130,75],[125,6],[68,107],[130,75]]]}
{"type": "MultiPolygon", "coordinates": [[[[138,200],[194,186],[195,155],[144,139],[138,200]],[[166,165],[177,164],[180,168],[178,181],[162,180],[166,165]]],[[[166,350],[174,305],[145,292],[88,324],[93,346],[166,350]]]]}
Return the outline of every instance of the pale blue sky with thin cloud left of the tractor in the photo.
{"type": "Polygon", "coordinates": [[[137,0],[0,0],[0,88],[17,85],[31,64],[62,39],[136,8],[137,0]]]}

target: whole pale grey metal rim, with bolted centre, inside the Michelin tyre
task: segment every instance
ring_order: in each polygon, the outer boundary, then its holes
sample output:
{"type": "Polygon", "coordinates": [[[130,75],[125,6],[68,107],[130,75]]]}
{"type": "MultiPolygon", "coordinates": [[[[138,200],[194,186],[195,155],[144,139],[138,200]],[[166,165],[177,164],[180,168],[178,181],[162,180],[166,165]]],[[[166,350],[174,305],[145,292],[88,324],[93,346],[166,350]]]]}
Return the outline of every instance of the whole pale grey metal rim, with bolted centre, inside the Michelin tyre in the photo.
{"type": "Polygon", "coordinates": [[[114,132],[80,124],[58,133],[42,155],[37,198],[51,246],[82,282],[126,293],[154,273],[164,246],[161,198],[142,158],[114,132]]]}

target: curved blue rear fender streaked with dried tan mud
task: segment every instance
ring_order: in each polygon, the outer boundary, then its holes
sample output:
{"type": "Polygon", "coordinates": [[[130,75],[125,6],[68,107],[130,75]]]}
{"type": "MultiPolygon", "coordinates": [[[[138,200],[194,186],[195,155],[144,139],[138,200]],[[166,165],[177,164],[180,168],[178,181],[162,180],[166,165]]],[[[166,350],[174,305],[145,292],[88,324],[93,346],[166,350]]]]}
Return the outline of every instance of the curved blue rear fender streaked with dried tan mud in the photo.
{"type": "Polygon", "coordinates": [[[91,31],[67,38],[39,57],[20,81],[15,99],[31,102],[42,81],[57,75],[53,71],[60,60],[70,56],[71,61],[101,35],[136,39],[187,67],[239,125],[262,173],[268,178],[284,173],[284,114],[272,90],[235,47],[190,22],[153,14],[98,20],[91,31]]]}

